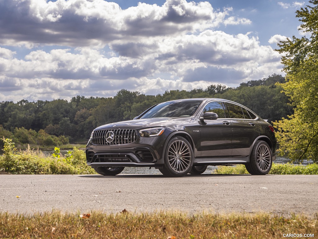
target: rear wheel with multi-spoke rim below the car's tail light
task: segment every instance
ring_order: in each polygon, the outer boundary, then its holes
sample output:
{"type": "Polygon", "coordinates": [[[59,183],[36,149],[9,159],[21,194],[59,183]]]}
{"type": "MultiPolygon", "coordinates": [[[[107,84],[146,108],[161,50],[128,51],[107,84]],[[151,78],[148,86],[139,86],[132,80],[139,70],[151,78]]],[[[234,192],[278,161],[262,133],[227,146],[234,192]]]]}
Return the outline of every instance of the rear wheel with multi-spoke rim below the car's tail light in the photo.
{"type": "Polygon", "coordinates": [[[250,162],[245,165],[246,170],[252,175],[265,175],[273,163],[272,151],[265,141],[257,141],[252,149],[250,162]]]}

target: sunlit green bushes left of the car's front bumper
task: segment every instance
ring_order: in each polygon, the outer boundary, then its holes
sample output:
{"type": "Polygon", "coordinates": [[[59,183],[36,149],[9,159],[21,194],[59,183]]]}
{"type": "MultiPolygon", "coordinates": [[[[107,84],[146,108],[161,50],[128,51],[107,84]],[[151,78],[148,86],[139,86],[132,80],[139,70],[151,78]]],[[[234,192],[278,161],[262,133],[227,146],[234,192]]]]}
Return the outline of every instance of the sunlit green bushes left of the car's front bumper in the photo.
{"type": "Polygon", "coordinates": [[[0,156],[0,171],[11,174],[92,174],[86,164],[84,150],[76,147],[65,155],[55,148],[52,156],[45,156],[38,149],[18,150],[11,139],[2,139],[3,155],[0,156]]]}

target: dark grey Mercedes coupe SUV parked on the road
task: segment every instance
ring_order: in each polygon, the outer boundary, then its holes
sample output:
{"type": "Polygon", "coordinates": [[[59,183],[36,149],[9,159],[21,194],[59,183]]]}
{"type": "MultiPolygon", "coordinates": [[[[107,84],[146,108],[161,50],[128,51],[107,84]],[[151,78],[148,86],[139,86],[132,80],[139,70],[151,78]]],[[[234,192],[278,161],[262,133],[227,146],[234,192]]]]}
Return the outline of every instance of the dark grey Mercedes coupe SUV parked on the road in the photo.
{"type": "Polygon", "coordinates": [[[134,120],[97,127],[86,146],[87,164],[101,175],[155,167],[181,177],[201,174],[208,165],[233,164],[264,175],[275,155],[272,125],[243,105],[217,98],[154,105],[134,120]]]}

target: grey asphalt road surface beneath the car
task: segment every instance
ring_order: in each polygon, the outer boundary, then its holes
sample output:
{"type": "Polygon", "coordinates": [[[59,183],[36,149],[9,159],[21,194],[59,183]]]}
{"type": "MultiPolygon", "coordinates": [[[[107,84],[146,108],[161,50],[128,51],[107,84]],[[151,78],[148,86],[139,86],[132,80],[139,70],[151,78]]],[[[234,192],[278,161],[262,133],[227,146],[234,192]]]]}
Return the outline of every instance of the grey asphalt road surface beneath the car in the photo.
{"type": "Polygon", "coordinates": [[[0,175],[0,211],[318,213],[318,175],[0,175]],[[17,197],[18,196],[18,197],[17,197]]]}

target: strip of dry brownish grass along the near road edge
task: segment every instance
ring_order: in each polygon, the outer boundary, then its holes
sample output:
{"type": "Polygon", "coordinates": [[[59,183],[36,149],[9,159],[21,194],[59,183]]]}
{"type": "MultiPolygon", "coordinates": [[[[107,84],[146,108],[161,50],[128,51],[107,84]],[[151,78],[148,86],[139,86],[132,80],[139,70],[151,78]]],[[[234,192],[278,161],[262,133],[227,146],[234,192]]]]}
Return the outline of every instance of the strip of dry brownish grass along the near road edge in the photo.
{"type": "Polygon", "coordinates": [[[0,238],[283,238],[284,233],[318,235],[315,219],[270,214],[188,215],[178,212],[105,214],[59,211],[32,215],[0,213],[0,238]]]}

